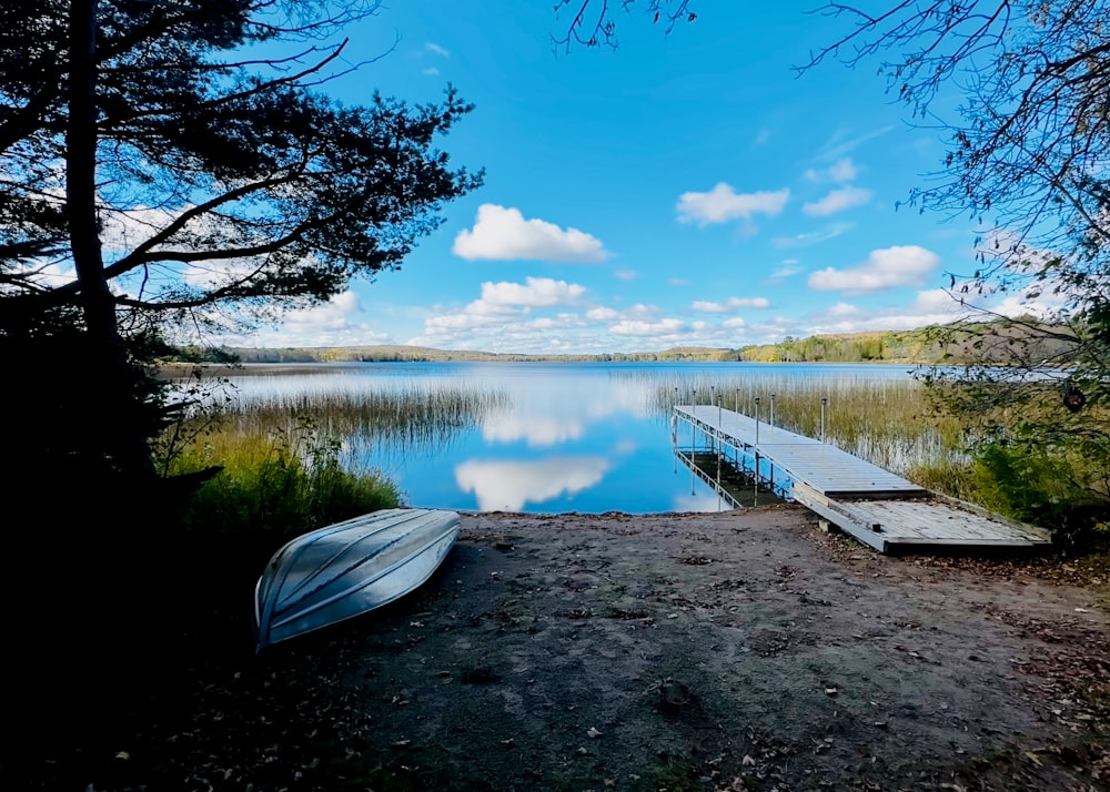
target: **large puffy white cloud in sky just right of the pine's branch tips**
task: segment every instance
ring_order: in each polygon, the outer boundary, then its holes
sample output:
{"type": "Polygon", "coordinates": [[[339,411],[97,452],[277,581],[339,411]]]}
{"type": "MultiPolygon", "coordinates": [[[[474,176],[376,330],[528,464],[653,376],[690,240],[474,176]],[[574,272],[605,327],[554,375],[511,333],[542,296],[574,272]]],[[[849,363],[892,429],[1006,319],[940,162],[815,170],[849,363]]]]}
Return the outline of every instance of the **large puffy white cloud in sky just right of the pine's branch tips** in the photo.
{"type": "Polygon", "coordinates": [[[485,203],[474,227],[458,232],[452,252],[467,261],[603,262],[608,251],[596,236],[563,230],[544,220],[525,220],[521,210],[485,203]]]}

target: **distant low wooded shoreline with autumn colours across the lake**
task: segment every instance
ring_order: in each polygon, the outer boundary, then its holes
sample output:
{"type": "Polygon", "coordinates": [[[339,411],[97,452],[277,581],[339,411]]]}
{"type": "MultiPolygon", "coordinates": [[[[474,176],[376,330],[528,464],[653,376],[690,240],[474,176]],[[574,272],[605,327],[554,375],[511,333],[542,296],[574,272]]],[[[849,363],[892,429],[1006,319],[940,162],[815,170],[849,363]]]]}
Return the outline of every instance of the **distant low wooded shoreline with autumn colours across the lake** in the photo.
{"type": "Polygon", "coordinates": [[[713,362],[753,363],[907,363],[959,365],[972,361],[1013,363],[1016,346],[1026,356],[1060,362],[1067,342],[1059,334],[1041,337],[1030,325],[1005,322],[930,326],[911,331],[876,331],[840,335],[787,336],[777,344],[722,349],[682,346],[660,352],[614,352],[599,355],[523,355],[433,349],[423,346],[284,347],[269,349],[201,349],[183,347],[183,363],[442,363],[442,362],[713,362]],[[1030,348],[1032,347],[1032,348],[1030,348]],[[985,355],[986,353],[986,355],[985,355]]]}

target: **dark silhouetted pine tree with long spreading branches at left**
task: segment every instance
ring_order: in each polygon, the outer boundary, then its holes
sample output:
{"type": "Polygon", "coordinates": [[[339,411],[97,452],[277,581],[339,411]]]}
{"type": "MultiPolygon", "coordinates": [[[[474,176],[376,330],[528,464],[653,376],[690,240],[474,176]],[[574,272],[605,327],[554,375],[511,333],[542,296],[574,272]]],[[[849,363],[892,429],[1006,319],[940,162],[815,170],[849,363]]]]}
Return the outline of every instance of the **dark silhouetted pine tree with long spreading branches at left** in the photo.
{"type": "Polygon", "coordinates": [[[3,408],[41,433],[8,449],[10,480],[152,476],[165,404],[142,364],[162,339],[395,268],[480,183],[435,148],[471,110],[454,91],[325,93],[359,65],[344,29],[375,10],[0,4],[0,354],[19,383],[3,408]]]}

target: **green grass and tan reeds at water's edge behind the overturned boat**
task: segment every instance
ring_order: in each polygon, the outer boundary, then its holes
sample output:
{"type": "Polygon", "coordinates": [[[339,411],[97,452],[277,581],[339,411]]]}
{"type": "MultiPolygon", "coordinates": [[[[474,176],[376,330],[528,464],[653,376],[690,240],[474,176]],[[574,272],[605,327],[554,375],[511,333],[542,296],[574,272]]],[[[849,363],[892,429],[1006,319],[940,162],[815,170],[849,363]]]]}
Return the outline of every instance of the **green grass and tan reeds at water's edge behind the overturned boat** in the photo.
{"type": "Polygon", "coordinates": [[[183,527],[255,537],[259,547],[274,549],[297,534],[402,502],[395,483],[349,453],[361,439],[443,447],[503,399],[427,384],[359,393],[275,389],[241,398],[223,383],[193,386],[188,396],[192,414],[159,443],[163,469],[172,476],[222,470],[192,497],[183,527]]]}

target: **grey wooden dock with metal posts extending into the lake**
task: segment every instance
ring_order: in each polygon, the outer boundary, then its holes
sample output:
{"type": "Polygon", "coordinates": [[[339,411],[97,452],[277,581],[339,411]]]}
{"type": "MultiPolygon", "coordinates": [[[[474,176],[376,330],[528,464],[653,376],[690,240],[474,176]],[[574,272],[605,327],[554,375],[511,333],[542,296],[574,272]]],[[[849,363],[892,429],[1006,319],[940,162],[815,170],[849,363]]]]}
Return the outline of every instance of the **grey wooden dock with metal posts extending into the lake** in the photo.
{"type": "Polygon", "coordinates": [[[729,464],[880,552],[1051,541],[1040,528],[932,493],[819,439],[717,406],[674,408],[676,448],[679,420],[690,427],[692,449],[700,433],[729,464]]]}

